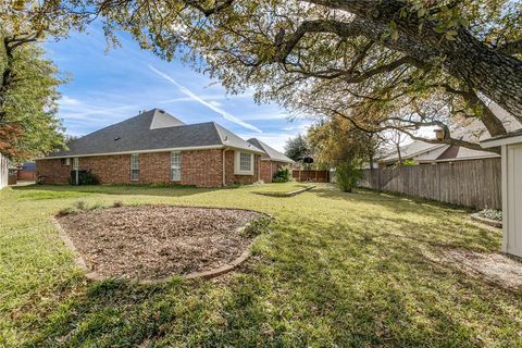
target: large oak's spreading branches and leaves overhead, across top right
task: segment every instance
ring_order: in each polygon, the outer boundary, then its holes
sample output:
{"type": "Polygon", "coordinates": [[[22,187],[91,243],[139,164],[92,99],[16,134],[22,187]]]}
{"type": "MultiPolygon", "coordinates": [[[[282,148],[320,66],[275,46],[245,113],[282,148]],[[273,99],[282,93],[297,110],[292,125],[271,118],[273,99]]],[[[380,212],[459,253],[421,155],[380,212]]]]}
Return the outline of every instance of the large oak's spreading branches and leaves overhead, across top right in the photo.
{"type": "Polygon", "coordinates": [[[258,100],[371,130],[389,127],[394,113],[407,115],[406,129],[443,127],[450,144],[458,139],[447,121],[456,115],[505,134],[490,100],[522,121],[520,1],[107,0],[98,8],[109,35],[123,28],[165,59],[181,52],[232,92],[253,86],[258,100]],[[389,112],[369,117],[370,110],[389,112]]]}

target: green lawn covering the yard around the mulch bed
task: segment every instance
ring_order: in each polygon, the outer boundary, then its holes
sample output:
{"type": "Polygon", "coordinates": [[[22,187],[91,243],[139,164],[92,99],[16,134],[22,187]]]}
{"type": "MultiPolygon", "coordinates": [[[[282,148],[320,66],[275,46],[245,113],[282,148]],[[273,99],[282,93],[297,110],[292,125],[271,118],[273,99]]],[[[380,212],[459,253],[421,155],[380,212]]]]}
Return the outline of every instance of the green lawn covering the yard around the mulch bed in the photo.
{"type": "Polygon", "coordinates": [[[500,233],[464,210],[370,191],[252,195],[285,185],[0,191],[0,347],[522,345],[521,293],[426,257],[496,251],[500,233]],[[49,220],[78,200],[237,207],[276,221],[220,282],[87,283],[49,220]]]}

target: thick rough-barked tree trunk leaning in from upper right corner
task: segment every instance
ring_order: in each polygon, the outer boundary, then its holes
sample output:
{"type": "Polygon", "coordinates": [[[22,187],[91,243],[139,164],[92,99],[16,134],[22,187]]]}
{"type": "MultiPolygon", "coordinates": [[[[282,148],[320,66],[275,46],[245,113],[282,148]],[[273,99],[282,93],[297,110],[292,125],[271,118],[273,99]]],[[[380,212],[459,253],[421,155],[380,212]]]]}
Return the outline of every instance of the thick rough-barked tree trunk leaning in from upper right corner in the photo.
{"type": "Polygon", "coordinates": [[[400,0],[304,0],[356,15],[365,24],[365,36],[375,38],[386,33],[395,21],[399,32],[396,41],[386,40],[389,49],[405,52],[415,59],[433,63],[443,59],[443,67],[456,78],[481,90],[506,111],[522,122],[522,62],[495,51],[478,41],[465,29],[459,29],[455,39],[434,30],[434,24],[411,15],[402,18],[399,12],[406,5],[400,0]]]}

